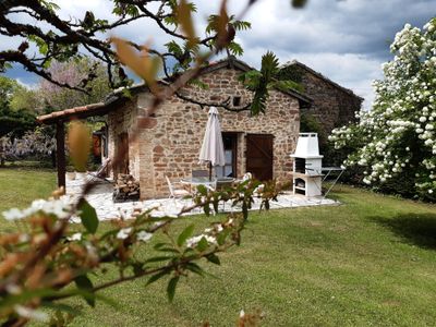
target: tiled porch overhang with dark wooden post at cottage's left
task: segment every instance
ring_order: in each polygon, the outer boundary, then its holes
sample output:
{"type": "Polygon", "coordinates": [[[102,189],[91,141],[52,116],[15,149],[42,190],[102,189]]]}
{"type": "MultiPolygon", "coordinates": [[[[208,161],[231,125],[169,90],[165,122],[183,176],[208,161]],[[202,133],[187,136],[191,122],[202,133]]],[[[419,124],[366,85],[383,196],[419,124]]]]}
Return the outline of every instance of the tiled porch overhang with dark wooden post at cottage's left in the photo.
{"type": "Polygon", "coordinates": [[[81,120],[89,117],[105,116],[116,108],[119,108],[123,101],[125,101],[125,98],[123,97],[113,97],[106,102],[98,102],[83,107],[55,111],[37,118],[39,123],[56,125],[56,157],[59,187],[63,186],[66,189],[65,123],[77,119],[81,120]]]}

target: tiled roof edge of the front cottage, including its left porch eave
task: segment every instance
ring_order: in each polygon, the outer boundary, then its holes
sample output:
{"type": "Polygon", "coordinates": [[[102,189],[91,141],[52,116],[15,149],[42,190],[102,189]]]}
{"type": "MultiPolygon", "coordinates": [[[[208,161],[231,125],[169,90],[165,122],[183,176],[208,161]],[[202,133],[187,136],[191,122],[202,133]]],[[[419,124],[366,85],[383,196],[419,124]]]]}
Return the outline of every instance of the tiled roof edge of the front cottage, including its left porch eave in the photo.
{"type": "MultiPolygon", "coordinates": [[[[233,68],[233,69],[238,69],[240,71],[243,72],[249,72],[252,70],[255,70],[254,68],[251,68],[249,64],[246,64],[245,62],[234,58],[234,57],[229,57],[213,63],[209,63],[207,66],[202,68],[199,74],[206,74],[206,73],[210,73],[223,68],[233,68]]],[[[162,84],[169,84],[168,81],[166,80],[161,80],[160,83],[162,84]]],[[[130,86],[129,92],[131,93],[138,93],[141,90],[146,90],[147,86],[146,84],[142,83],[142,84],[136,84],[133,86],[130,86]]],[[[86,106],[82,106],[82,107],[75,107],[75,108],[71,108],[71,109],[65,109],[65,110],[60,110],[60,111],[55,111],[48,114],[44,114],[44,116],[39,116],[37,118],[37,121],[40,123],[45,123],[45,124],[52,124],[56,123],[58,121],[69,121],[71,119],[84,119],[84,118],[88,118],[88,117],[94,117],[94,116],[104,116],[109,113],[111,110],[114,110],[117,108],[117,106],[120,104],[120,101],[125,101],[128,98],[124,95],[124,87],[118,88],[116,90],[113,90],[104,102],[98,102],[98,104],[92,104],[92,105],[86,105],[86,106]]],[[[313,102],[313,100],[296,92],[293,89],[289,89],[289,90],[281,90],[280,92],[294,97],[299,100],[300,105],[311,105],[313,102]]]]}

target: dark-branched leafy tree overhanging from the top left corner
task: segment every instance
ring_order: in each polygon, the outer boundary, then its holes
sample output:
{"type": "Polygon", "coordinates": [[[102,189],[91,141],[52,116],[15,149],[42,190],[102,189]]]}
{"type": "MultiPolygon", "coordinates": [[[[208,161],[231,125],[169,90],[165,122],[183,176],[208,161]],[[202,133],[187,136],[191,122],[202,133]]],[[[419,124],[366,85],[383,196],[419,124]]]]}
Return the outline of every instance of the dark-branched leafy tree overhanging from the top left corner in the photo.
{"type": "MultiPolygon", "coordinates": [[[[86,50],[95,59],[106,64],[109,82],[113,88],[124,85],[126,75],[110,46],[110,41],[100,37],[101,33],[110,32],[134,21],[152,20],[156,22],[160,29],[171,36],[173,40],[165,45],[164,51],[158,51],[157,48],[147,48],[153,56],[161,60],[164,72],[168,76],[172,66],[175,70],[190,68],[202,48],[213,49],[219,47],[220,43],[222,44],[222,40],[217,38],[219,34],[217,28],[221,28],[220,24],[216,22],[216,17],[219,15],[210,16],[204,37],[196,37],[193,43],[189,36],[181,32],[181,21],[178,20],[177,12],[178,1],[175,0],[116,0],[112,4],[114,20],[109,22],[97,17],[97,13],[89,11],[84,13],[83,17],[62,20],[57,14],[59,7],[50,1],[3,1],[0,4],[0,24],[3,26],[0,34],[8,37],[20,37],[23,43],[19,49],[0,51],[0,66],[4,63],[20,63],[28,71],[58,86],[86,90],[87,83],[93,80],[93,70],[88,70],[87,76],[82,78],[78,85],[57,81],[48,70],[50,61],[65,62],[71,58],[81,56],[83,50],[86,50]],[[46,24],[49,33],[39,25],[23,23],[23,16],[46,24]],[[31,44],[37,47],[39,56],[33,57],[29,53],[31,44]],[[117,74],[113,74],[114,71],[117,71],[117,74]]],[[[196,5],[193,2],[186,2],[185,8],[190,14],[196,12],[196,5]]],[[[227,44],[231,53],[242,53],[242,48],[234,43],[234,33],[249,27],[249,23],[235,20],[234,16],[226,21],[223,28],[232,31],[229,34],[231,40],[227,44]]],[[[144,48],[144,46],[132,41],[130,41],[130,45],[138,51],[144,48]]]]}

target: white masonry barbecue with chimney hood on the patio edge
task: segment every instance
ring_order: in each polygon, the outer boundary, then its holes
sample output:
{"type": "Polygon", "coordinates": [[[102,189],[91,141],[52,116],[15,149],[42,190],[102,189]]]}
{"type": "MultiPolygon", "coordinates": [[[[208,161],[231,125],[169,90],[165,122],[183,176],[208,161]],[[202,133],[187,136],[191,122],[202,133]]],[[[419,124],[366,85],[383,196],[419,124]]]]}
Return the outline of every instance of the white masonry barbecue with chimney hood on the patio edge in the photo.
{"type": "Polygon", "coordinates": [[[293,193],[305,196],[322,195],[322,165],[318,134],[300,133],[293,155],[293,193]]]}

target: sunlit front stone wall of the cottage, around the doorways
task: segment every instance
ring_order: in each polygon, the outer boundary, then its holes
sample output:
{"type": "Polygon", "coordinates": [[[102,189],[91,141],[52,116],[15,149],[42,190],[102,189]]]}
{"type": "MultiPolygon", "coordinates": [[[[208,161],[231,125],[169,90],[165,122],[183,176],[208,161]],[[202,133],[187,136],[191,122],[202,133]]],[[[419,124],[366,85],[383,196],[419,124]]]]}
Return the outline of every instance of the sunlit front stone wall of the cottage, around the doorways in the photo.
{"type": "MultiPolygon", "coordinates": [[[[186,87],[184,96],[197,100],[221,102],[229,96],[241,97],[242,106],[251,100],[251,93],[238,81],[240,71],[220,69],[206,73],[201,80],[208,89],[186,87]]],[[[137,107],[146,110],[148,96],[137,97],[137,107]]],[[[172,181],[191,175],[198,165],[209,108],[185,102],[179,98],[167,101],[150,119],[140,135],[140,182],[142,198],[168,196],[165,175],[172,181]]],[[[230,112],[219,109],[222,132],[238,133],[238,177],[245,173],[245,135],[271,134],[274,138],[274,177],[289,179],[292,168],[289,155],[293,153],[300,125],[298,100],[278,90],[271,90],[267,113],[250,117],[247,111],[230,112]]]]}

